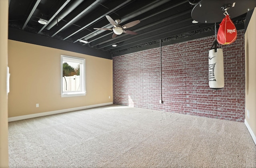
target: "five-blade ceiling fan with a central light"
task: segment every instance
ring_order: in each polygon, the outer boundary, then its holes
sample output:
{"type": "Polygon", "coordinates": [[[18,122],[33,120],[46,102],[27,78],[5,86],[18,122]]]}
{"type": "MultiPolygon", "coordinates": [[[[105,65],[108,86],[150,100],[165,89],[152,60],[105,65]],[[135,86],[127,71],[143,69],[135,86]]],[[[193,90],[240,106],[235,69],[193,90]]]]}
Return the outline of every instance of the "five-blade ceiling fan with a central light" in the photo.
{"type": "Polygon", "coordinates": [[[120,23],[122,22],[122,20],[120,19],[116,19],[115,21],[108,15],[106,15],[106,18],[108,19],[108,21],[110,22],[110,24],[112,24],[112,26],[114,26],[112,29],[109,28],[94,28],[95,30],[110,30],[114,32],[114,34],[112,35],[112,38],[115,38],[117,35],[120,35],[122,33],[126,33],[126,34],[132,34],[132,35],[136,35],[136,32],[132,32],[130,30],[125,30],[127,28],[130,28],[132,26],[135,26],[136,24],[140,23],[140,20],[135,20],[133,22],[130,22],[128,24],[125,24],[124,26],[121,26],[120,23]]]}

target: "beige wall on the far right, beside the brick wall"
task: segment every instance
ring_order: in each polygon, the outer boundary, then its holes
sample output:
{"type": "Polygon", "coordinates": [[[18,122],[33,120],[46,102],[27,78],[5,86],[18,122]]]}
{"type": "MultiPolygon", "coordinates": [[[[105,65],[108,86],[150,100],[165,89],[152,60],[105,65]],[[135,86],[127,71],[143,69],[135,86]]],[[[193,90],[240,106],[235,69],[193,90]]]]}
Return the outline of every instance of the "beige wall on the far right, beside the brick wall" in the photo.
{"type": "Polygon", "coordinates": [[[246,94],[245,119],[256,135],[256,8],[245,32],[246,94]],[[250,117],[248,117],[248,111],[250,117]]]}

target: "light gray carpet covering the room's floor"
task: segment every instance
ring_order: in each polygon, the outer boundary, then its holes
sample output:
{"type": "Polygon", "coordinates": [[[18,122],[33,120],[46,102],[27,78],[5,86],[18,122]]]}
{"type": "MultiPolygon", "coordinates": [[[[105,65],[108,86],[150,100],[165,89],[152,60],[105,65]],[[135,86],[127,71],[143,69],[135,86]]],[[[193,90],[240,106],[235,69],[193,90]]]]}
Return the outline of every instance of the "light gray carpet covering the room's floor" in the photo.
{"type": "Polygon", "coordinates": [[[121,105],[9,123],[10,168],[255,168],[244,123],[121,105]]]}

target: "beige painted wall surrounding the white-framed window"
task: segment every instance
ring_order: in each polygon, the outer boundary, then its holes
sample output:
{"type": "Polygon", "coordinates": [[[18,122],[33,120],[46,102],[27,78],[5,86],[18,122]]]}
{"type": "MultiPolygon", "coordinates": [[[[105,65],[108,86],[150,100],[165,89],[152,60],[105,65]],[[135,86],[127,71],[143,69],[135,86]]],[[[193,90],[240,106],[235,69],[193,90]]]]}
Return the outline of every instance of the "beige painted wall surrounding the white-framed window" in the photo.
{"type": "Polygon", "coordinates": [[[113,102],[110,59],[14,40],[8,40],[8,52],[8,117],[113,102]],[[86,96],[61,97],[60,55],[86,59],[86,96]]]}

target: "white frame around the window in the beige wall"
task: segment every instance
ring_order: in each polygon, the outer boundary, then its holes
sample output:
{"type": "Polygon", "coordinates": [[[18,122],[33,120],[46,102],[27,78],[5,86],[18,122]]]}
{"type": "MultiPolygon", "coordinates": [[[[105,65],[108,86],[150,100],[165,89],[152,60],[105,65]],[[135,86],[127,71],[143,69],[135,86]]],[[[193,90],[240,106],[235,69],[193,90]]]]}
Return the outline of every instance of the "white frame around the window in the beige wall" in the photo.
{"type": "Polygon", "coordinates": [[[79,57],[71,57],[67,55],[60,55],[60,88],[61,97],[71,97],[71,96],[85,96],[85,59],[79,57]],[[80,91],[63,91],[63,61],[80,63],[80,91]]]}

